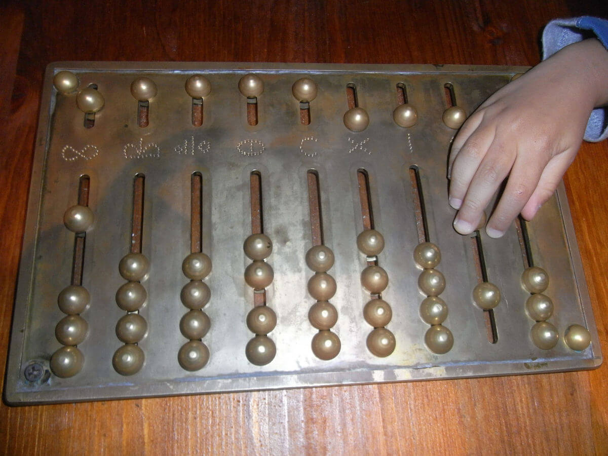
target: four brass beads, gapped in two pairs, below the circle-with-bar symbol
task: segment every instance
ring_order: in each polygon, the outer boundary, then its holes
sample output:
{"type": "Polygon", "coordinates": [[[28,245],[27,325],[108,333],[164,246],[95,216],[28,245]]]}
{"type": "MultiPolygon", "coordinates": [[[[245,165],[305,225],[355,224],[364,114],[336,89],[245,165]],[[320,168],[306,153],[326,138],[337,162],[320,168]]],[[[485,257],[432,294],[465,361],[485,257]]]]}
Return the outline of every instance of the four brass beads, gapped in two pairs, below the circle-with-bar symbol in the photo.
{"type": "MultiPolygon", "coordinates": [[[[272,241],[264,233],[255,233],[247,237],[243,250],[252,260],[245,269],[245,282],[254,289],[254,293],[263,293],[274,279],[272,266],[266,262],[266,258],[272,254],[272,241]]],[[[247,328],[255,334],[245,347],[249,362],[261,366],[274,359],[277,347],[267,334],[274,330],[276,325],[277,315],[269,306],[255,306],[249,311],[247,328]]]]}

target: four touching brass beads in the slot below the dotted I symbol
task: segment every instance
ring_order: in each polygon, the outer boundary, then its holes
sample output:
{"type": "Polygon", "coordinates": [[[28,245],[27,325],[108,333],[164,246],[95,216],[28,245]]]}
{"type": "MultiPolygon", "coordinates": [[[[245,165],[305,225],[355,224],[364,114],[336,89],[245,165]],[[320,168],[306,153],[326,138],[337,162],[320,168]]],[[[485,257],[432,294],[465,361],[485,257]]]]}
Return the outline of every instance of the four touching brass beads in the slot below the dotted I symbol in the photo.
{"type": "Polygon", "coordinates": [[[420,316],[430,328],[424,334],[424,342],[430,351],[447,353],[454,345],[454,336],[441,323],[447,318],[446,302],[439,295],[446,288],[446,279],[437,266],[441,261],[439,247],[430,242],[418,244],[413,253],[414,261],[423,269],[418,276],[418,288],[426,295],[420,305],[420,316]]]}

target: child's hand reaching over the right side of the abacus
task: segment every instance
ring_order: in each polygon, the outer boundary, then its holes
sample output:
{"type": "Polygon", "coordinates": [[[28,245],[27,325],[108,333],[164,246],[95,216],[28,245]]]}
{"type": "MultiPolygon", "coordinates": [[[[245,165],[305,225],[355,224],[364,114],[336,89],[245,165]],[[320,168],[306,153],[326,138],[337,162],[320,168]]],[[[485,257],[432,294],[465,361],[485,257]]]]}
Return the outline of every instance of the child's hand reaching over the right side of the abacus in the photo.
{"type": "Polygon", "coordinates": [[[531,219],[572,163],[595,106],[608,103],[608,52],[597,40],[564,47],[486,100],[454,139],[449,204],[471,233],[509,175],[486,233],[531,219]]]}

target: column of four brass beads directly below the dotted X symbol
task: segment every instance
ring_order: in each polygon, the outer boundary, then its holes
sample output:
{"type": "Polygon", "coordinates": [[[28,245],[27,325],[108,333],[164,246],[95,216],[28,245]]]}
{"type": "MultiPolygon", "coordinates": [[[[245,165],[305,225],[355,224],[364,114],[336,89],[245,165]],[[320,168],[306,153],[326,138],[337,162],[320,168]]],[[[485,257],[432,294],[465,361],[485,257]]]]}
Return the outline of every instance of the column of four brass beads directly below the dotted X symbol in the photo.
{"type": "MultiPolygon", "coordinates": [[[[357,237],[357,247],[368,261],[376,261],[384,250],[384,237],[374,229],[364,230],[357,237]]],[[[395,334],[384,327],[393,317],[389,303],[381,295],[389,285],[389,275],[380,266],[372,264],[361,272],[361,285],[371,294],[363,308],[365,321],[374,328],[367,336],[367,349],[371,354],[384,358],[395,351],[396,345],[395,334]]]]}

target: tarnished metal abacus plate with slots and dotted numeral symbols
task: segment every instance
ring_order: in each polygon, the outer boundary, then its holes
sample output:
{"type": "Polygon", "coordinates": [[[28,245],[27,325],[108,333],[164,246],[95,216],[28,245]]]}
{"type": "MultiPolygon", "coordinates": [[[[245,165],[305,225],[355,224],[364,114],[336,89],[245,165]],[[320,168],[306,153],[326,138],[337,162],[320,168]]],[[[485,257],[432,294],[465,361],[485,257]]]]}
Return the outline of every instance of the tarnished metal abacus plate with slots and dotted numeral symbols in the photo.
{"type": "MultiPolygon", "coordinates": [[[[455,211],[447,204],[446,163],[455,130],[442,120],[446,83],[452,85],[457,105],[470,114],[523,71],[521,67],[465,66],[50,65],[16,294],[7,401],[89,401],[598,367],[602,361],[598,336],[563,185],[534,221],[525,225],[528,254],[549,277],[543,293],[553,302],[551,325],[537,333],[549,345],[556,335],[551,328],[559,334],[548,350],[539,348],[538,340],[531,337],[535,321],[525,306],[531,294],[521,282],[522,244],[526,242],[520,242],[516,226],[499,240],[486,237],[483,230],[478,234],[483,245],[483,279],[494,283],[501,295],[499,305],[492,309],[495,343],[488,339],[488,313],[472,297],[482,279],[471,237],[452,228],[455,211]],[[54,75],[62,70],[77,76],[80,90],[95,85],[105,99],[103,109],[85,119],[76,92],[63,94],[54,88],[54,75]],[[241,78],[249,73],[263,82],[257,99],[246,98],[238,89],[241,78]],[[193,98],[184,89],[185,81],[195,74],[204,75],[211,86],[202,103],[201,126],[193,126],[193,98]],[[138,103],[131,94],[131,83],[139,77],[148,77],[156,85],[157,94],[149,103],[138,103]],[[309,125],[301,121],[306,105],[292,95],[292,85],[302,77],[311,78],[318,88],[308,105],[309,125]],[[400,83],[407,102],[418,113],[418,122],[408,128],[393,122],[400,83]],[[345,127],[347,86],[356,90],[356,103],[369,116],[363,131],[345,127]],[[256,101],[258,123],[250,125],[247,105],[256,101]],[[147,110],[148,126],[139,126],[138,104],[147,110]],[[85,127],[87,122],[90,128],[85,127]],[[441,251],[437,269],[446,286],[440,298],[449,309],[441,327],[449,328],[454,339],[443,354],[434,353],[429,341],[425,342],[425,334],[435,326],[420,315],[426,294],[418,287],[422,269],[413,260],[421,239],[416,229],[412,167],[417,168],[418,191],[424,197],[428,240],[441,251]],[[339,337],[341,348],[328,360],[317,358],[311,350],[311,340],[319,330],[308,319],[315,303],[307,289],[314,272],[305,261],[313,246],[310,170],[319,182],[323,241],[335,257],[328,272],[337,283],[330,301],[338,318],[331,331],[339,337]],[[361,170],[367,176],[373,227],[385,241],[377,258],[366,258],[358,250],[357,237],[365,227],[358,181],[361,170]],[[247,343],[254,336],[246,317],[257,299],[244,280],[251,263],[243,242],[252,233],[252,171],[262,181],[263,232],[274,244],[266,258],[274,269],[274,280],[266,287],[265,302],[277,316],[268,334],[276,354],[264,365],[252,364],[246,356],[247,343]],[[213,269],[204,278],[211,295],[203,311],[211,325],[201,338],[209,348],[209,362],[190,371],[178,362],[178,352],[188,341],[179,325],[188,311],[180,293],[188,283],[182,261],[191,252],[193,173],[201,176],[201,250],[209,255],[213,269]],[[78,202],[81,176],[89,178],[87,204],[94,214],[86,232],[81,271],[90,302],[80,317],[88,330],[81,334],[84,340],[64,334],[78,331],[74,325],[59,331],[66,347],[77,345],[83,356],[75,373],[62,378],[55,375],[50,359],[62,347],[55,325],[66,315],[58,307],[58,295],[71,283],[75,238],[82,237],[64,226],[64,213],[78,202]],[[125,316],[117,306],[116,293],[125,283],[119,262],[133,247],[136,176],[145,176],[141,252],[150,268],[141,280],[148,298],[136,311],[147,322],[147,333],[130,345],[139,347],[145,362],[133,375],[121,375],[112,364],[114,353],[126,346],[116,336],[116,323],[125,316]],[[373,328],[363,317],[370,291],[361,284],[361,272],[374,261],[389,277],[381,297],[392,309],[392,320],[385,326],[394,336],[395,348],[385,357],[375,356],[366,345],[373,328]],[[589,330],[590,345],[583,340],[586,348],[581,351],[570,348],[576,348],[576,341],[570,346],[565,342],[564,333],[574,324],[589,330]]],[[[69,92],[69,81],[67,86],[69,92]]],[[[93,105],[95,100],[89,100],[89,107],[93,105]]],[[[577,335],[584,339],[586,333],[577,335]]],[[[58,362],[69,364],[75,359],[67,356],[58,362]]],[[[68,373],[57,365],[55,369],[68,373]]]]}

